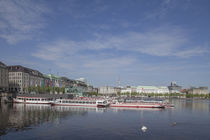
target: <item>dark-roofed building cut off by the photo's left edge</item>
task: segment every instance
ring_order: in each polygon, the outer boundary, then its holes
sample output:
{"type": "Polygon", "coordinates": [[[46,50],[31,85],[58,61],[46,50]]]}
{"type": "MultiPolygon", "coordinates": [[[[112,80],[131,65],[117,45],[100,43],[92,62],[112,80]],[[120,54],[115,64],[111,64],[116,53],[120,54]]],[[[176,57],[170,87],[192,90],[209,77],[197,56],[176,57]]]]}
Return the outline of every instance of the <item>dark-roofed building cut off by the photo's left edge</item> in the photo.
{"type": "Polygon", "coordinates": [[[8,81],[8,69],[7,66],[0,62],[0,92],[7,91],[9,88],[9,81],[8,81]]]}

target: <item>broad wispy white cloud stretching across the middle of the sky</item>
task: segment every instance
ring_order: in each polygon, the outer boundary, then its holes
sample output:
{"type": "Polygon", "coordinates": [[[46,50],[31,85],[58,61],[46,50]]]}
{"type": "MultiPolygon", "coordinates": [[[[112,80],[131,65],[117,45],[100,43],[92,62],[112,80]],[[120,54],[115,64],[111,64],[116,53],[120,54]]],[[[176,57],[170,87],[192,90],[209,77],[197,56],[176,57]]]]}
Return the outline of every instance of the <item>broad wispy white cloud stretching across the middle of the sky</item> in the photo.
{"type": "Polygon", "coordinates": [[[185,58],[209,53],[206,48],[189,47],[190,44],[190,38],[181,29],[161,28],[117,36],[99,35],[95,40],[86,41],[59,39],[40,44],[39,50],[32,55],[50,61],[56,67],[68,71],[70,75],[85,75],[94,77],[95,80],[106,79],[108,82],[107,77],[117,78],[120,72],[130,76],[144,76],[148,73],[157,76],[160,73],[183,71],[186,69],[185,64],[182,67],[177,66],[182,64],[170,62],[151,64],[137,57],[146,54],[153,58],[176,57],[186,60],[185,58]]]}

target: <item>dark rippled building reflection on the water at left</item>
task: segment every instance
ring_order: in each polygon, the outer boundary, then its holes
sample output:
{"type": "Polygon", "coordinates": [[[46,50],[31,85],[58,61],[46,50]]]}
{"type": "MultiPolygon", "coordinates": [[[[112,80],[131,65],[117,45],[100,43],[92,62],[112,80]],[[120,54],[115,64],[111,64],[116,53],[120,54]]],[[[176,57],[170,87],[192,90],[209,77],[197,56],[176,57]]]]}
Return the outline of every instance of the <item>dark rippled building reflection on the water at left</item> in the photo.
{"type": "Polygon", "coordinates": [[[62,107],[38,104],[1,104],[0,136],[11,131],[32,129],[44,123],[59,124],[64,118],[85,116],[89,111],[97,113],[106,109],[85,107],[62,107]]]}

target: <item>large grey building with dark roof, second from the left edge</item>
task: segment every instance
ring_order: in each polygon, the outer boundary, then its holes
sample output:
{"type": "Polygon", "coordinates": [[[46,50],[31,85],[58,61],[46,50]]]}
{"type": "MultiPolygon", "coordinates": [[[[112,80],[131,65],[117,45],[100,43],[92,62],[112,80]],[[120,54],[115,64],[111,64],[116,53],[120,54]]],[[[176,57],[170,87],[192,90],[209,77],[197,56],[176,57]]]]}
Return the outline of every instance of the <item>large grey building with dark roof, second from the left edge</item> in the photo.
{"type": "Polygon", "coordinates": [[[42,86],[43,75],[37,70],[20,65],[8,66],[9,90],[11,92],[27,92],[28,87],[42,86]]]}

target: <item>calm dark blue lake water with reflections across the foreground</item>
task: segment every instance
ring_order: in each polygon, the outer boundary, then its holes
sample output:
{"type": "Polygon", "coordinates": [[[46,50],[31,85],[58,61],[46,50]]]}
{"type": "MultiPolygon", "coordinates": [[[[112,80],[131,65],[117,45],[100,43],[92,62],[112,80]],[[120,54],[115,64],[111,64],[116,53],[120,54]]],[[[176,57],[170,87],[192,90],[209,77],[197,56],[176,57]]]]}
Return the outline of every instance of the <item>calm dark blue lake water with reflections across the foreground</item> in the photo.
{"type": "Polygon", "coordinates": [[[0,139],[210,140],[209,100],[170,102],[160,110],[1,104],[0,139]]]}

